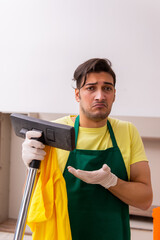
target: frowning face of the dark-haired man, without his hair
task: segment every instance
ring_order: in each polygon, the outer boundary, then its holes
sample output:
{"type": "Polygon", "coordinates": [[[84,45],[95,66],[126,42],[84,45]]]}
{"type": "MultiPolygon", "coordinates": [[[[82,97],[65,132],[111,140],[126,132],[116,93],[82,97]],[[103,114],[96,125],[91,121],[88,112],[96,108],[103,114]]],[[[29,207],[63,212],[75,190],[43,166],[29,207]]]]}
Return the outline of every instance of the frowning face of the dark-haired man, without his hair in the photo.
{"type": "Polygon", "coordinates": [[[75,90],[76,100],[80,103],[80,115],[97,122],[106,119],[115,100],[115,91],[110,74],[89,73],[85,85],[75,90]]]}

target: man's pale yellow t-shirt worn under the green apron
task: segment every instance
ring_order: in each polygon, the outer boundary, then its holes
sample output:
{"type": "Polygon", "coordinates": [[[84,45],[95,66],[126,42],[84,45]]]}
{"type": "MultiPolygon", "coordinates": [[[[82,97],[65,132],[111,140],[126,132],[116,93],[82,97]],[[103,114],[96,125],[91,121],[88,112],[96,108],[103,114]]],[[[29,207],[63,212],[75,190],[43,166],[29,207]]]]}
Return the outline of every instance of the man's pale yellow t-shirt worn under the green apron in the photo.
{"type": "MultiPolygon", "coordinates": [[[[66,116],[57,119],[55,122],[74,126],[71,117],[75,116],[66,116]]],[[[130,179],[130,165],[140,161],[148,161],[143,142],[136,127],[132,123],[113,118],[108,118],[108,120],[111,123],[117,145],[126,166],[128,178],[130,179]]],[[[79,127],[77,149],[105,150],[110,147],[112,147],[112,142],[107,124],[101,128],[79,127]]],[[[56,151],[59,168],[63,173],[69,152],[62,149],[56,149],[56,151]]]]}

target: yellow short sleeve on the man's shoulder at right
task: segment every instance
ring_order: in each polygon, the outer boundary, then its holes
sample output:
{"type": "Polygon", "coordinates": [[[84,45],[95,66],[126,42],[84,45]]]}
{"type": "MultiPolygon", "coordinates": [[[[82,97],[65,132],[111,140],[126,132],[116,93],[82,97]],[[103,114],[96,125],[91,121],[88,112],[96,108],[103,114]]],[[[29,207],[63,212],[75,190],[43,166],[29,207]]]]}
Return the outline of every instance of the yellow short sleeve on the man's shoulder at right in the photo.
{"type": "Polygon", "coordinates": [[[148,161],[141,136],[137,128],[130,123],[130,137],[131,137],[131,162],[130,164],[148,161]]]}

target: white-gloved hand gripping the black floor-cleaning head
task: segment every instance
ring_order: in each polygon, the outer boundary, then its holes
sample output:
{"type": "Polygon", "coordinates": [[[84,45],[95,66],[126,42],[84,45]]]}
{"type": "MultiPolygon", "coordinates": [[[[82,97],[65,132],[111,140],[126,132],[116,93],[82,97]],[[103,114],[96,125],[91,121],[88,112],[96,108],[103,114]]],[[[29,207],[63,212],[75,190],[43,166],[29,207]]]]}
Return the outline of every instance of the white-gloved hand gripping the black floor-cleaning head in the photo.
{"type": "Polygon", "coordinates": [[[28,131],[26,133],[25,141],[22,144],[22,159],[24,164],[29,167],[33,159],[43,160],[46,152],[43,150],[45,145],[37,140],[31,138],[41,137],[41,132],[28,131]]]}

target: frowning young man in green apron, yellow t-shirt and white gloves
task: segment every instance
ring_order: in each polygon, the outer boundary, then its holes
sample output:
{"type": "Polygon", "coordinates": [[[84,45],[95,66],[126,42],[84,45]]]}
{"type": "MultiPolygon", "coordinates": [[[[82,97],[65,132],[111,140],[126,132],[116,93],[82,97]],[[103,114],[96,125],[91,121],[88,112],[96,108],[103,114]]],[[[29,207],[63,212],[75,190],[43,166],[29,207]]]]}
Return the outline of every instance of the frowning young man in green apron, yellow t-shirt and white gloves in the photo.
{"type": "MultiPolygon", "coordinates": [[[[73,240],[129,240],[128,205],[152,202],[150,170],[141,138],[129,122],[109,118],[116,76],[107,59],[90,59],[74,73],[79,116],[59,123],[75,126],[76,149],[57,149],[68,196],[73,240]]],[[[28,132],[23,160],[43,160],[44,146],[28,132]]]]}

